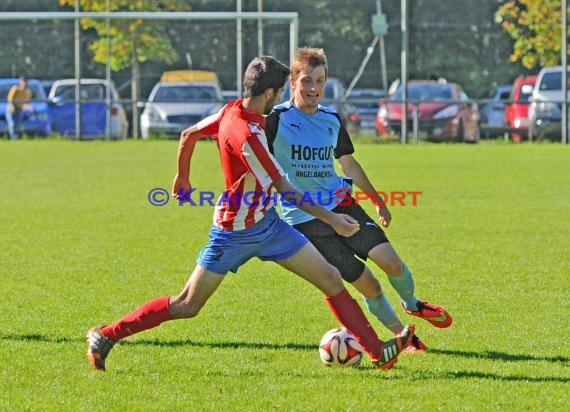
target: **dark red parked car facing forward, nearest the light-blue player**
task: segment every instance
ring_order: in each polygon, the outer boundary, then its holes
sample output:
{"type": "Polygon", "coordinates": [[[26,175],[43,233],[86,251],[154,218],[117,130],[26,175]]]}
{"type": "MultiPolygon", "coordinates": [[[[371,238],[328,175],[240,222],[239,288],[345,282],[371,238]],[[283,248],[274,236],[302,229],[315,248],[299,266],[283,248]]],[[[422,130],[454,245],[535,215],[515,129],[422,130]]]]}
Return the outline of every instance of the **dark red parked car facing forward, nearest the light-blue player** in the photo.
{"type": "MultiPolygon", "coordinates": [[[[428,140],[478,142],[479,106],[471,101],[456,83],[441,80],[412,80],[408,82],[408,128],[413,130],[414,110],[417,110],[418,131],[428,140]]],[[[402,87],[389,99],[380,102],[376,116],[376,132],[401,132],[402,87]]]]}

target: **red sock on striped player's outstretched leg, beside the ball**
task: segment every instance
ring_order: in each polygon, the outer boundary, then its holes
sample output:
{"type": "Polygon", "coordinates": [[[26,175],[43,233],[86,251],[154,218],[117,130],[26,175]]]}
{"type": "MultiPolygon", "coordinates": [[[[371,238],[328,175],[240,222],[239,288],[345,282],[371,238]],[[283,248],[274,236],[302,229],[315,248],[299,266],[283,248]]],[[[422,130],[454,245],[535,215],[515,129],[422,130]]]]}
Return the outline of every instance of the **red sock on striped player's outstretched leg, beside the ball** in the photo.
{"type": "Polygon", "coordinates": [[[326,296],[326,300],[338,321],[354,335],[370,358],[373,361],[380,359],[382,342],[348,290],[344,289],[336,296],[326,296]]]}

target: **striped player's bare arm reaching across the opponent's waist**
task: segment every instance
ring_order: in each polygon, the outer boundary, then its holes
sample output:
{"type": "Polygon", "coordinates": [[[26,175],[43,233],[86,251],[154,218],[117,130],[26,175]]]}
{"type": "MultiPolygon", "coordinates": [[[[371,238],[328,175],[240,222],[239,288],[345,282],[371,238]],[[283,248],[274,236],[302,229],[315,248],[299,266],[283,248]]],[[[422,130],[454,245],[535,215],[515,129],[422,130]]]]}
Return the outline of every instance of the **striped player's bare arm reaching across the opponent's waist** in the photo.
{"type": "Polygon", "coordinates": [[[297,207],[299,209],[310,213],[316,218],[331,225],[335,232],[341,236],[350,237],[360,229],[358,222],[348,215],[334,213],[322,206],[310,205],[307,202],[302,202],[301,200],[303,199],[303,195],[291,186],[291,183],[289,183],[285,177],[274,181],[273,186],[275,186],[275,189],[280,194],[284,195],[284,200],[298,205],[297,207]]]}

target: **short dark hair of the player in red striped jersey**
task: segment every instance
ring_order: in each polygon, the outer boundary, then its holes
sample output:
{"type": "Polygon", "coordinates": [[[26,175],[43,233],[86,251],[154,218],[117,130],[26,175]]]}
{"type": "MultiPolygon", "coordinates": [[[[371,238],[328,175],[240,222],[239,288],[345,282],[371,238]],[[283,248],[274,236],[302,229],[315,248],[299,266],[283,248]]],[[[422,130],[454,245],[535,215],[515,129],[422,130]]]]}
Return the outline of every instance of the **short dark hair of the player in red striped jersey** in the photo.
{"type": "Polygon", "coordinates": [[[256,57],[243,76],[245,97],[259,96],[267,89],[277,91],[285,85],[289,68],[271,56],[256,57]]]}

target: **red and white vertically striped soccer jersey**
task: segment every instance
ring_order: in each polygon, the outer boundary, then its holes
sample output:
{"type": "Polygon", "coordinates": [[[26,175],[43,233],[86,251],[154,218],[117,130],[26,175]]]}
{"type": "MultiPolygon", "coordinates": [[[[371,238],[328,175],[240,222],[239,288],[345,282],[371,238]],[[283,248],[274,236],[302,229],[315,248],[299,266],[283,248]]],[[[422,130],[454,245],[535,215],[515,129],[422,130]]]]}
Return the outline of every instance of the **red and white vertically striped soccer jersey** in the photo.
{"type": "Polygon", "coordinates": [[[259,222],[275,206],[272,182],[284,176],[267,146],[265,118],[245,110],[242,102],[230,102],[197,124],[218,141],[226,190],[216,203],[214,225],[225,230],[259,222]]]}

